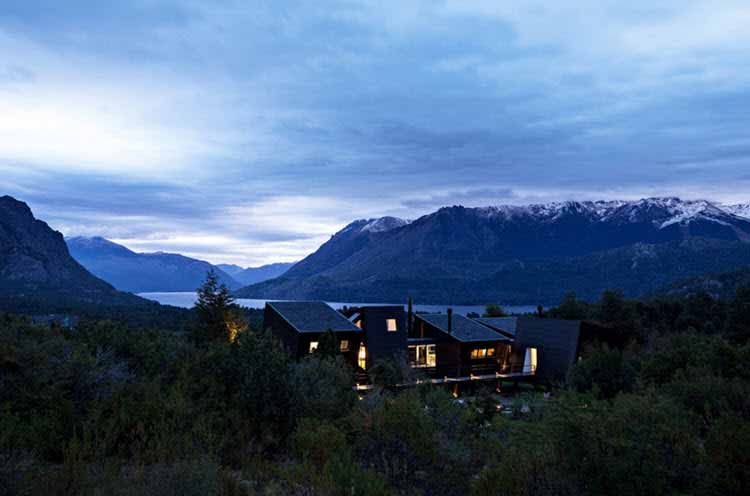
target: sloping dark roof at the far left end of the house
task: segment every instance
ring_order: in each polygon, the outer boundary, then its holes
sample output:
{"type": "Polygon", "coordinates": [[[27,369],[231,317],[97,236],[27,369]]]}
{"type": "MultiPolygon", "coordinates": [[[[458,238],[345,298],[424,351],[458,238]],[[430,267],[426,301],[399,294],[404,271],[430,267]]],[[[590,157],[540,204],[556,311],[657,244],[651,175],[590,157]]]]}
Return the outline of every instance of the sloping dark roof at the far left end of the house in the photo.
{"type": "Polygon", "coordinates": [[[266,303],[297,332],[360,332],[361,329],[322,301],[274,301],[266,303]]]}

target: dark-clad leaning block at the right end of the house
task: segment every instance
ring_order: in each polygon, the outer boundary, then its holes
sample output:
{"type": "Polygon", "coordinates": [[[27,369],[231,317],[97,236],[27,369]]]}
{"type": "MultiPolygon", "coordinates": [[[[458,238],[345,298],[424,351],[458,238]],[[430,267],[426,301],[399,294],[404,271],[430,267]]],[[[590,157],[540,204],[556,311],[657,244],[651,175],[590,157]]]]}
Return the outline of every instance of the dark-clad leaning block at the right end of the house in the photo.
{"type": "Polygon", "coordinates": [[[537,349],[537,376],[548,381],[565,379],[578,353],[581,323],[577,320],[519,318],[513,343],[513,367],[523,366],[526,348],[537,349]]]}

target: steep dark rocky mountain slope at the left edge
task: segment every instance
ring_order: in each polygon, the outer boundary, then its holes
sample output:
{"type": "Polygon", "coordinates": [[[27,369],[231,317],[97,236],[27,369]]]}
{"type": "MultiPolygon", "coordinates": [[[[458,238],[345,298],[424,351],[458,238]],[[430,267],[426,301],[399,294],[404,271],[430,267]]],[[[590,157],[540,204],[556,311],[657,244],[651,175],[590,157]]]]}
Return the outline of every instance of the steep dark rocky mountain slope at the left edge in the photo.
{"type": "Polygon", "coordinates": [[[31,209],[0,197],[0,307],[155,305],[117,291],[76,262],[62,234],[37,220],[31,209]]]}

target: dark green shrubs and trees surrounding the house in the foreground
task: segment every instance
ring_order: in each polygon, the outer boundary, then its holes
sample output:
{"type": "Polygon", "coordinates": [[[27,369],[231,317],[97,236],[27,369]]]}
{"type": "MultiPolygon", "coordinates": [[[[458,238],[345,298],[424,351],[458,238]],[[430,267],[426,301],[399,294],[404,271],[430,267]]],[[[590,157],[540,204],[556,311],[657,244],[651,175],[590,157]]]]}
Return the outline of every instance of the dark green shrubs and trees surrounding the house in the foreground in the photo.
{"type": "Polygon", "coordinates": [[[750,290],[571,295],[547,315],[596,320],[628,344],[592,345],[551,398],[527,391],[498,412],[489,391],[360,398],[335,356],[291,362],[208,289],[189,332],[1,316],[0,494],[750,490],[750,290]]]}

